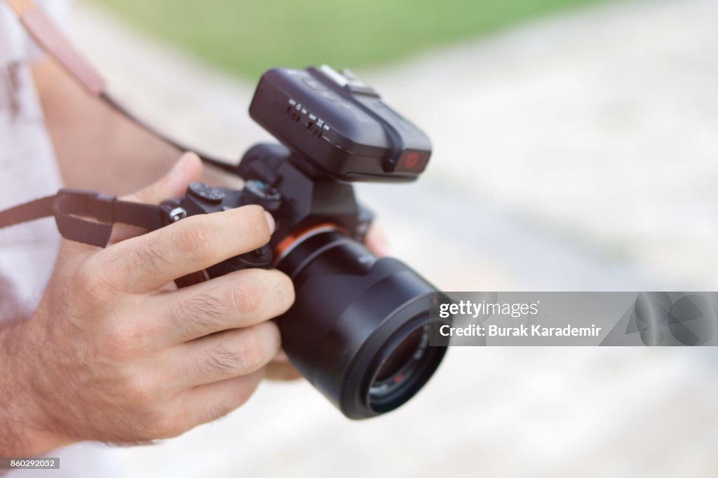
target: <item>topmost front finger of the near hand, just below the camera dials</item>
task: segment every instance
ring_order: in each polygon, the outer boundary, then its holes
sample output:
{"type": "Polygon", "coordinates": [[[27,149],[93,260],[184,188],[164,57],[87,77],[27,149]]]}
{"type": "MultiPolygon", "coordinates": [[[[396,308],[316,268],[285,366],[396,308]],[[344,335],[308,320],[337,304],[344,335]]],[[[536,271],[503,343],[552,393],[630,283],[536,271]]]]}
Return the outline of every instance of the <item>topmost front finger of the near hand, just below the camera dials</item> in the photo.
{"type": "Polygon", "coordinates": [[[118,291],[154,291],[178,277],[202,271],[269,242],[274,221],[260,206],[200,214],[123,240],[90,259],[118,291]]]}

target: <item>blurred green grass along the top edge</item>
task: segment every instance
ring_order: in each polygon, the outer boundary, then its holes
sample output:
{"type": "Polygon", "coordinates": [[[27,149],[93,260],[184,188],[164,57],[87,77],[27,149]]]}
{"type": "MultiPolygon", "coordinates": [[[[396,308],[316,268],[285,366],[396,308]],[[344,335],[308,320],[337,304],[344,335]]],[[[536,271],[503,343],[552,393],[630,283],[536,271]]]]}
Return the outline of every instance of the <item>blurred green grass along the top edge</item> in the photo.
{"type": "Polygon", "coordinates": [[[600,0],[91,0],[225,71],[391,62],[600,0]]]}

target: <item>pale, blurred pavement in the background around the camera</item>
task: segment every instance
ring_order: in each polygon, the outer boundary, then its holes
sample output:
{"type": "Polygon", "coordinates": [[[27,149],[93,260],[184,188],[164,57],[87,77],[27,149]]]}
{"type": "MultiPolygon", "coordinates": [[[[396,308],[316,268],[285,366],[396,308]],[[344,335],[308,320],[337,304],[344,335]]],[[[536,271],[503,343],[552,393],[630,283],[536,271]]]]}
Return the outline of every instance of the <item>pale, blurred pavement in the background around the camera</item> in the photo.
{"type": "MultiPolygon", "coordinates": [[[[253,85],[85,4],[73,31],[188,144],[238,157],[268,139],[253,85]]],[[[716,0],[621,2],[360,71],[435,145],[419,182],[360,197],[445,290],[715,290],[717,45],[716,0]]],[[[714,477],[716,355],[455,347],[383,418],[266,384],[218,423],[118,454],[134,477],[714,477]]]]}

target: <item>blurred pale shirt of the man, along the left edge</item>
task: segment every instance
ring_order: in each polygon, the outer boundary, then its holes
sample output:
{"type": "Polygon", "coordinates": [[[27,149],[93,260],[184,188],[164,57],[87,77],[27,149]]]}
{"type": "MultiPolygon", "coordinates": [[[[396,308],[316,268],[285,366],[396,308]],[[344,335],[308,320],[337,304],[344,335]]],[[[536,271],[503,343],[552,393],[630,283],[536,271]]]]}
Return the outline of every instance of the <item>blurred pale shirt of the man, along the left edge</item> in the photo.
{"type": "MultiPolygon", "coordinates": [[[[69,1],[36,2],[62,23],[69,1]]],[[[39,57],[37,47],[0,0],[0,210],[55,194],[62,186],[29,70],[39,57]]],[[[37,307],[59,244],[52,218],[0,230],[0,322],[37,307]]],[[[117,477],[114,454],[101,444],[76,444],[46,454],[60,457],[59,470],[17,470],[6,477],[117,477]]]]}

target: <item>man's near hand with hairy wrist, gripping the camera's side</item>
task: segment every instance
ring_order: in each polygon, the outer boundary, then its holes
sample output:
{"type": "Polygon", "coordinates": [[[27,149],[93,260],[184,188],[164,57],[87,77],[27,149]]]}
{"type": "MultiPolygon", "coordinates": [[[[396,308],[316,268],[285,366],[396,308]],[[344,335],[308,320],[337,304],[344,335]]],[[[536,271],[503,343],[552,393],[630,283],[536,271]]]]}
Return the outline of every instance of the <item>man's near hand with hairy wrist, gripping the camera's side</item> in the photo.
{"type": "MultiPolygon", "coordinates": [[[[180,196],[200,169],[185,155],[126,199],[180,196]]],[[[122,228],[103,250],[65,241],[33,317],[0,329],[0,456],[176,436],[244,403],[279,352],[267,321],[291,306],[291,281],[260,269],[179,290],[172,281],[266,244],[273,230],[246,206],[145,235],[122,228]]]]}

